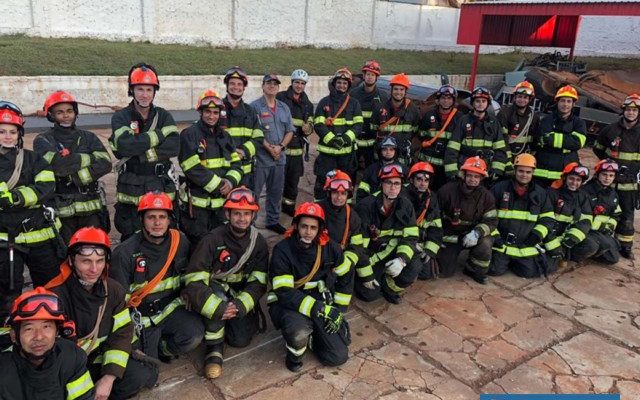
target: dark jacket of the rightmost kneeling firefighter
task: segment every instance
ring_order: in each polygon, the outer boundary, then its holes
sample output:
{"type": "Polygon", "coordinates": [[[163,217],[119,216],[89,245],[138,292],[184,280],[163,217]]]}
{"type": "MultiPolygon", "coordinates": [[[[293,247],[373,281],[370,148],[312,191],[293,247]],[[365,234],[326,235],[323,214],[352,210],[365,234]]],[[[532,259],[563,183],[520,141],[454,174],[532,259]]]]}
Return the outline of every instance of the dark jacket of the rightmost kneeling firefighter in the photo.
{"type": "Polygon", "coordinates": [[[593,215],[591,229],[612,234],[618,226],[618,218],[622,213],[620,204],[618,204],[618,193],[613,185],[604,187],[594,177],[580,190],[587,195],[591,205],[593,215]]]}

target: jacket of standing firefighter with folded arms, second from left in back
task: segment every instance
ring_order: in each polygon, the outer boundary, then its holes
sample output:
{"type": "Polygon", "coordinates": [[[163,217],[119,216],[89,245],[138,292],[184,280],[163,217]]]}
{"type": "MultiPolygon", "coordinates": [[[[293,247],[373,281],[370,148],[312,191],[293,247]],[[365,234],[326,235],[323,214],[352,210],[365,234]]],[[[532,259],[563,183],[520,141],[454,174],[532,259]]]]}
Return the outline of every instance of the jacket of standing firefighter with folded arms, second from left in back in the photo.
{"type": "Polygon", "coordinates": [[[98,179],[112,167],[111,156],[95,133],[55,124],[36,137],[33,150],[47,160],[56,177],[52,204],[60,218],[102,211],[98,179]]]}

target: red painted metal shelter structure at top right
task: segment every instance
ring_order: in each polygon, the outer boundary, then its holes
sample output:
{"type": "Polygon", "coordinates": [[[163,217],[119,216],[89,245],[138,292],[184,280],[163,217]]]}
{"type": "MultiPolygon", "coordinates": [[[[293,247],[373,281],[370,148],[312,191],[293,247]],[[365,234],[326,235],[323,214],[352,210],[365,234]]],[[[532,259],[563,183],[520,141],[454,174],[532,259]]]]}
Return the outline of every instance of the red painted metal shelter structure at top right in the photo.
{"type": "Polygon", "coordinates": [[[480,45],[567,47],[570,56],[583,15],[640,16],[640,1],[477,1],[460,8],[458,44],[474,45],[469,89],[480,45]]]}

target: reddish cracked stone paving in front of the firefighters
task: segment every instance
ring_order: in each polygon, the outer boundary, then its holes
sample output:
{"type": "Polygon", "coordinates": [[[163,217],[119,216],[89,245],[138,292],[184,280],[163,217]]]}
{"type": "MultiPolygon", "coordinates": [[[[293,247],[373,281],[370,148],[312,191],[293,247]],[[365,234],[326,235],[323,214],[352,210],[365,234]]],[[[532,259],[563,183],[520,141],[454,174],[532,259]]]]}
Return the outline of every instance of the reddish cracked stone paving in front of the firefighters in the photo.
{"type": "MultiPolygon", "coordinates": [[[[593,164],[592,155],[583,156],[593,164]]],[[[313,177],[300,186],[308,199],[313,177]]],[[[249,348],[226,350],[220,379],[202,377],[200,348],[163,366],[158,386],[138,399],[470,400],[503,392],[640,398],[640,272],[627,260],[570,264],[548,280],[506,275],[481,286],[458,274],[417,282],[398,306],[355,301],[348,320],[351,357],[339,368],[308,354],[304,369],[290,373],[284,343],[270,328],[249,348]]]]}

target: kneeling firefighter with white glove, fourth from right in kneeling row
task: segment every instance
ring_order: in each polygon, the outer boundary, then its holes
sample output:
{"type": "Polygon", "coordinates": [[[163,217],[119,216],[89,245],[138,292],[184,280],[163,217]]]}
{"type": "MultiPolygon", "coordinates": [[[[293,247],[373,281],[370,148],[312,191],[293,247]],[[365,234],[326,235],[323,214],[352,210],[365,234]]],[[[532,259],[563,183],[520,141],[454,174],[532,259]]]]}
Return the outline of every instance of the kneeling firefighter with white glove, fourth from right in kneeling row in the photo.
{"type": "Polygon", "coordinates": [[[444,235],[438,253],[439,274],[452,276],[460,262],[465,275],[484,285],[491,262],[491,232],[498,225],[496,202],[481,185],[489,173],[480,156],[469,157],[460,167],[460,175],[462,180],[438,190],[444,235]]]}

